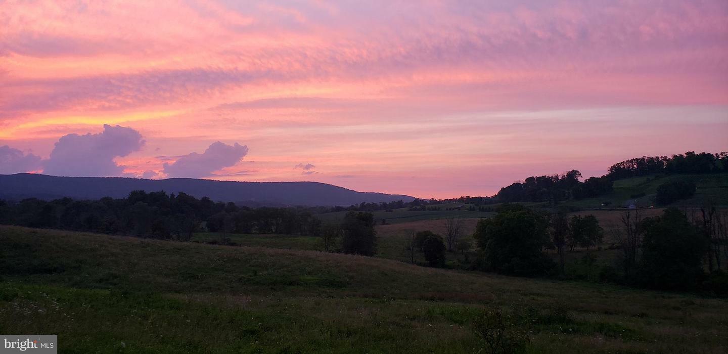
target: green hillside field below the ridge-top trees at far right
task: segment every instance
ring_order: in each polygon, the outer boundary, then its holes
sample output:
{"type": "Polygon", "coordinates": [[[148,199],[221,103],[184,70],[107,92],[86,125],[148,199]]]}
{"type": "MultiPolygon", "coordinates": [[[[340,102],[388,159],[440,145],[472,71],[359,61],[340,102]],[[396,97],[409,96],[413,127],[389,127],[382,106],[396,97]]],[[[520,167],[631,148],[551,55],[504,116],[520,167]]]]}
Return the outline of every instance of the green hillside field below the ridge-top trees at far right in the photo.
{"type": "Polygon", "coordinates": [[[583,200],[570,200],[563,205],[573,205],[580,208],[599,208],[602,202],[611,202],[610,208],[624,208],[630,200],[637,200],[640,206],[654,204],[657,187],[668,181],[689,178],[695,181],[697,191],[695,196],[688,200],[675,202],[674,206],[700,206],[708,202],[716,205],[728,206],[728,173],[696,174],[696,175],[652,175],[634,178],[625,178],[614,181],[614,191],[601,197],[583,200]],[[632,197],[645,194],[644,197],[632,197]]]}

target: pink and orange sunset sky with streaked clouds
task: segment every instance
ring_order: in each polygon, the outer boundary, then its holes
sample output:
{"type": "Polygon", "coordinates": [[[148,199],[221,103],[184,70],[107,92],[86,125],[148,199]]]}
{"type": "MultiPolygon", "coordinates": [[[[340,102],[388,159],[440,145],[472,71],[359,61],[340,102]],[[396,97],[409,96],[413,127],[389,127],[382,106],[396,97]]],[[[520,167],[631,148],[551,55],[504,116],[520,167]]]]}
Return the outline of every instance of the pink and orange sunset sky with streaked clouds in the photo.
{"type": "Polygon", "coordinates": [[[728,151],[728,1],[0,0],[0,173],[416,197],[728,151]]]}

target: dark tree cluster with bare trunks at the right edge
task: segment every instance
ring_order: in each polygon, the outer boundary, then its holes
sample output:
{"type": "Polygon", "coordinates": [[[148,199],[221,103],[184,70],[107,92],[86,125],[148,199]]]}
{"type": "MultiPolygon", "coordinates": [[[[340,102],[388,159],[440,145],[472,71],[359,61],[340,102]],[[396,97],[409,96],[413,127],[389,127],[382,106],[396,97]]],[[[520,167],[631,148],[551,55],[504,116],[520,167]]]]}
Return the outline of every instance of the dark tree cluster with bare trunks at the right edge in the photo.
{"type": "Polygon", "coordinates": [[[725,219],[728,214],[714,207],[689,213],[668,208],[644,219],[640,211],[626,211],[618,237],[625,280],[649,288],[728,295],[725,219]]]}

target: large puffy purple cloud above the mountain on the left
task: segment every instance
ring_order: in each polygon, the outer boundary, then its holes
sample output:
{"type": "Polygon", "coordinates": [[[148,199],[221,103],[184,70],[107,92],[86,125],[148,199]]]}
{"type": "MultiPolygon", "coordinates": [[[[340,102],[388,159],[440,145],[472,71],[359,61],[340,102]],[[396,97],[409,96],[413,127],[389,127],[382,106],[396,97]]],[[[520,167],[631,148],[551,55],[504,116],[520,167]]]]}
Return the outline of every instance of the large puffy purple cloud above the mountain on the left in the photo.
{"type": "Polygon", "coordinates": [[[103,125],[103,132],[63,135],[55,143],[43,173],[55,176],[122,176],[124,167],[114,158],[125,157],[144,145],[141,134],[130,127],[103,125]]]}

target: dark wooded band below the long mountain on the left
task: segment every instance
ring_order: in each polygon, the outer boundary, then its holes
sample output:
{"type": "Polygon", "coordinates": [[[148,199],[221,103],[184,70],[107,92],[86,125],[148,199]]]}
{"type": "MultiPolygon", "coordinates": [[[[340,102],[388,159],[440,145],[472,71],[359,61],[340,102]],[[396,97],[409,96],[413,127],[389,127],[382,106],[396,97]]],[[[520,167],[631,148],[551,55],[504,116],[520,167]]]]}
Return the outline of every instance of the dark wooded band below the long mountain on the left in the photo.
{"type": "Polygon", "coordinates": [[[251,209],[183,192],[144,191],[119,199],[0,200],[0,223],[175,240],[190,240],[202,229],[309,235],[320,224],[305,208],[251,209]]]}

